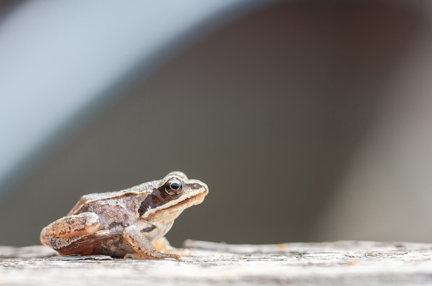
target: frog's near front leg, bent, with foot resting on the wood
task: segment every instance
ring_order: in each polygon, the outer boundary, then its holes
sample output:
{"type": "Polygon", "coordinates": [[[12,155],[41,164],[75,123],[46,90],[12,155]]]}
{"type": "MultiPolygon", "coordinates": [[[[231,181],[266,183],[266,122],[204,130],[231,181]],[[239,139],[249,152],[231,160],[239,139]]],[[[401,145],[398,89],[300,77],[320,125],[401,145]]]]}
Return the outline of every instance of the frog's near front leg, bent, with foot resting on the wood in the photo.
{"type": "Polygon", "coordinates": [[[166,254],[158,252],[155,246],[148,240],[148,237],[152,236],[151,232],[155,230],[155,225],[140,221],[135,225],[130,225],[124,229],[123,238],[132,247],[135,254],[126,254],[124,258],[135,258],[135,259],[175,259],[180,260],[180,256],[177,254],[166,254]]]}

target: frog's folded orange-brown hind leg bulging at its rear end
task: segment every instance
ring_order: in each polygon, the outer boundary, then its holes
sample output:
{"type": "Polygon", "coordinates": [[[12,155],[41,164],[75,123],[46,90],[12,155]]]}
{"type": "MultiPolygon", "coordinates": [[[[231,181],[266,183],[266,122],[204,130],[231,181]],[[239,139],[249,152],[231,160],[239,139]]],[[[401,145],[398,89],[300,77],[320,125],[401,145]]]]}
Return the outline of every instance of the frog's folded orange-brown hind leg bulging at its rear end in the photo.
{"type": "Polygon", "coordinates": [[[58,250],[71,240],[94,234],[101,229],[99,216],[94,212],[83,212],[72,216],[63,216],[44,227],[41,243],[58,250]]]}

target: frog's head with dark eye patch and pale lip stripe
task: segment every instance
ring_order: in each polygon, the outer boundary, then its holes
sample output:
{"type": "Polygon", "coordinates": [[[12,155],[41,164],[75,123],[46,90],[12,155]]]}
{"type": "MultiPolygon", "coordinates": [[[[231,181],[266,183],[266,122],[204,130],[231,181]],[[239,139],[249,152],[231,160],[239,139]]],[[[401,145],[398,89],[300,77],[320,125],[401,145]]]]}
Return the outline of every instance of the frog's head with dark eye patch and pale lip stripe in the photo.
{"type": "Polygon", "coordinates": [[[202,203],[207,194],[208,187],[202,181],[190,180],[182,172],[170,172],[146,196],[138,213],[148,221],[174,221],[188,207],[202,203]]]}

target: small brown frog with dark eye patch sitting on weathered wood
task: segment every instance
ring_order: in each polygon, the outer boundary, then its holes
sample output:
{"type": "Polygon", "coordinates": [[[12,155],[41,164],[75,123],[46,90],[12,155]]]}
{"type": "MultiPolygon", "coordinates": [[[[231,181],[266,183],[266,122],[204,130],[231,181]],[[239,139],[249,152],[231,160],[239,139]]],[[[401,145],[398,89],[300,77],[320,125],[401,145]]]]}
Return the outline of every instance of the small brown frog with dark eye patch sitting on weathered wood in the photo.
{"type": "Polygon", "coordinates": [[[181,212],[207,194],[205,183],[179,171],[121,191],[86,194],[66,216],[44,227],[40,240],[61,256],[179,261],[188,250],[172,247],[165,234],[181,212]]]}

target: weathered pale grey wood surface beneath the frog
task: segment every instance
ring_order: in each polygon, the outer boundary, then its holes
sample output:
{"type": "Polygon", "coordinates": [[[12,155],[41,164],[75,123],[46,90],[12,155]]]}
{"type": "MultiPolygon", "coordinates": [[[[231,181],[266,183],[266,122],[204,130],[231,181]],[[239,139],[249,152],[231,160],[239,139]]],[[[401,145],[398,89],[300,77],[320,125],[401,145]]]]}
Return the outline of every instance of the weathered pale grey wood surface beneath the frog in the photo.
{"type": "Polygon", "coordinates": [[[192,256],[135,261],[0,247],[0,285],[432,285],[432,245],[186,241],[192,256]]]}

